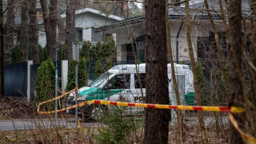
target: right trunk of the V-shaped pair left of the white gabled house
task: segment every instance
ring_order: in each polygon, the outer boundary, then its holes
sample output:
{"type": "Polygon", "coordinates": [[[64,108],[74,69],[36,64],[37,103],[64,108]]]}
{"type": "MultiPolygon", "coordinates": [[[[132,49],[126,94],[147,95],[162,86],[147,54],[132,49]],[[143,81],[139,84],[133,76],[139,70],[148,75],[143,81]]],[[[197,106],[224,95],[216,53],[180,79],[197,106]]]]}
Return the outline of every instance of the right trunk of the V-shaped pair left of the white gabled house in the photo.
{"type": "Polygon", "coordinates": [[[51,35],[52,35],[52,49],[55,50],[54,47],[57,36],[57,21],[58,21],[58,3],[57,0],[50,0],[49,6],[49,20],[51,24],[51,35]]]}

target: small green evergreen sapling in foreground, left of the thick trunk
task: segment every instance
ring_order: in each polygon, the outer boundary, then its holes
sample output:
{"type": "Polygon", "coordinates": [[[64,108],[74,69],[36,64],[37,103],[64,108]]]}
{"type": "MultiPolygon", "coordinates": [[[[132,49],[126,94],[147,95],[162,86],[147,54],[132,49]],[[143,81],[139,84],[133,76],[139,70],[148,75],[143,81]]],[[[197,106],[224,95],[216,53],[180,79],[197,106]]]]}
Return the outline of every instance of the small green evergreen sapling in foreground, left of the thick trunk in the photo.
{"type": "Polygon", "coordinates": [[[100,122],[107,127],[99,129],[93,139],[102,144],[131,143],[127,139],[134,136],[132,132],[140,127],[142,120],[135,121],[133,116],[122,115],[127,109],[129,107],[111,106],[108,116],[100,116],[100,122]]]}

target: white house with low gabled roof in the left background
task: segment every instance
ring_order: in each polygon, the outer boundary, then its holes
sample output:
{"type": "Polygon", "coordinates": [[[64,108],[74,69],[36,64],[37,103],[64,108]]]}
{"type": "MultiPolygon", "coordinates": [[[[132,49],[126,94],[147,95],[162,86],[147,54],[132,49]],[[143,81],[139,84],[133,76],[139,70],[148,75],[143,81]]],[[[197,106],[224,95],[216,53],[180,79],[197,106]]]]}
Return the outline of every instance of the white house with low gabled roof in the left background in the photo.
{"type": "MultiPolygon", "coordinates": [[[[61,14],[61,17],[65,22],[66,14],[61,14]]],[[[76,10],[76,40],[79,40],[79,42],[90,40],[92,44],[98,41],[102,42],[102,33],[95,33],[95,27],[111,24],[111,22],[116,20],[122,20],[122,18],[116,15],[105,15],[99,10],[92,8],[76,10]]],[[[42,21],[39,22],[38,27],[40,29],[38,31],[38,44],[44,47],[46,44],[44,23],[42,21]]],[[[108,33],[104,33],[104,38],[108,37],[108,35],[108,33]]]]}

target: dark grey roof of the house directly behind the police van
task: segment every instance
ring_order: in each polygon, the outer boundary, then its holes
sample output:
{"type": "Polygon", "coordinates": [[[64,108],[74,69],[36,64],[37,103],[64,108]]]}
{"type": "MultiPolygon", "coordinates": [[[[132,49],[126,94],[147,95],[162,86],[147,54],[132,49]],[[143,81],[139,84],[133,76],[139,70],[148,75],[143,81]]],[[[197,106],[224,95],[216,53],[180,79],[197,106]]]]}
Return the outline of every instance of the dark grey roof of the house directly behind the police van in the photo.
{"type": "MultiPolygon", "coordinates": [[[[225,0],[223,1],[223,9],[226,10],[227,6],[225,4],[225,0]]],[[[209,10],[211,10],[213,19],[221,19],[220,5],[218,0],[211,0],[208,2],[209,10]]],[[[189,4],[190,15],[192,19],[209,19],[209,15],[207,13],[207,9],[205,8],[204,0],[198,1],[197,3],[189,4]]],[[[250,2],[249,0],[241,1],[241,10],[243,17],[250,17],[250,2]]],[[[227,13],[226,13],[227,14],[227,13]]],[[[170,8],[169,9],[169,17],[170,19],[181,19],[186,15],[184,6],[170,8]]],[[[102,29],[111,29],[118,28],[123,26],[125,23],[136,24],[145,21],[145,15],[141,15],[138,17],[131,17],[129,19],[119,20],[116,22],[112,22],[111,24],[106,24],[105,26],[97,27],[97,31],[102,29]]]]}

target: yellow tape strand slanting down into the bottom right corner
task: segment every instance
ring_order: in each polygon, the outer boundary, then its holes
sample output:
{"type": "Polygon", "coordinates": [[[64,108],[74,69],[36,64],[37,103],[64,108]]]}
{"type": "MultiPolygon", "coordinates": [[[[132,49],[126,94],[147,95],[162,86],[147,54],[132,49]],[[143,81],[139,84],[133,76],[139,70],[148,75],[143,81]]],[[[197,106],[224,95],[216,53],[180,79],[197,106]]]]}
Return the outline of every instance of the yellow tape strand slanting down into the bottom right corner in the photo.
{"type": "Polygon", "coordinates": [[[239,134],[241,135],[241,137],[242,137],[242,139],[243,139],[243,141],[244,141],[245,143],[247,143],[247,144],[255,144],[255,143],[256,143],[256,139],[253,138],[253,136],[250,136],[250,134],[246,134],[246,132],[243,132],[243,131],[239,128],[239,126],[238,126],[238,124],[237,124],[237,122],[236,122],[234,116],[231,115],[231,113],[228,113],[228,117],[229,117],[229,119],[230,119],[230,122],[234,125],[234,127],[236,128],[236,130],[239,132],[239,134]]]}

